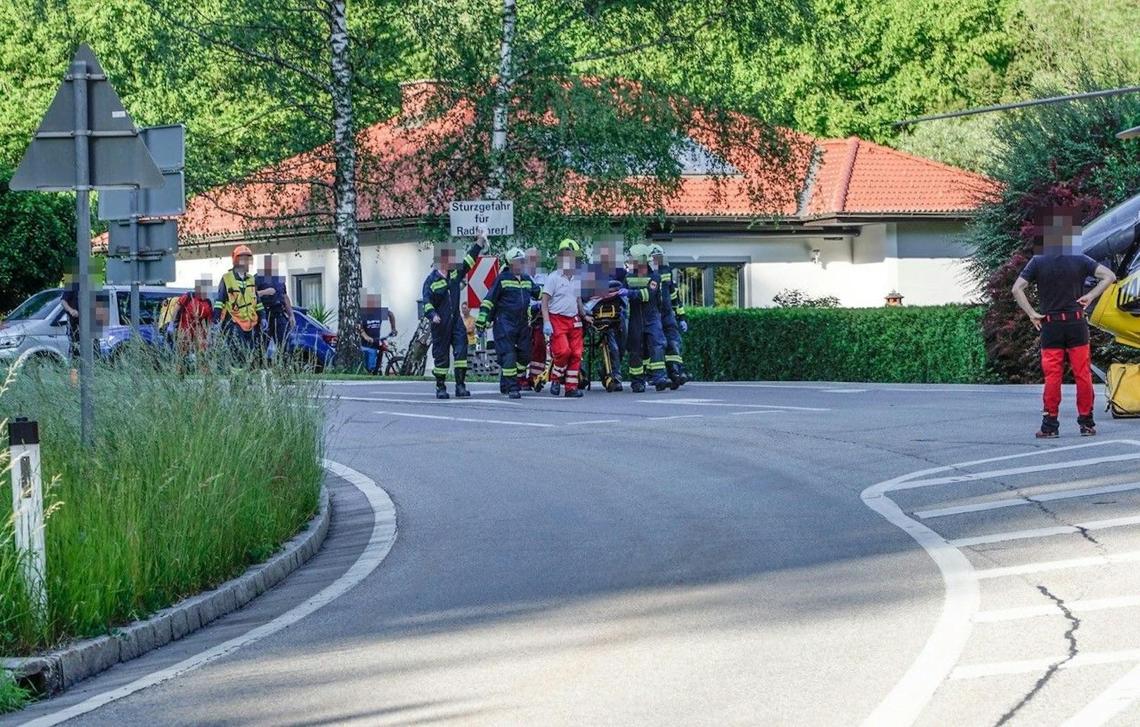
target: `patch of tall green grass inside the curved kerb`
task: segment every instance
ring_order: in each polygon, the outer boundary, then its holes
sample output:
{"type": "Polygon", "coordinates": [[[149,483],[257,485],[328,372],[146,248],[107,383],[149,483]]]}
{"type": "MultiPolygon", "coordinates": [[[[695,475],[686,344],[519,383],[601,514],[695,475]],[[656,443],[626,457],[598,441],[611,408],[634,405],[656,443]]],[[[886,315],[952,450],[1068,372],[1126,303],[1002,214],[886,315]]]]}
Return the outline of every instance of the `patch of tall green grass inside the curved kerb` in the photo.
{"type": "Polygon", "coordinates": [[[80,444],[67,372],[22,371],[0,396],[0,418],[40,423],[49,511],[46,619],[24,596],[10,518],[0,528],[3,652],[104,633],[213,587],[267,558],[316,511],[319,385],[285,387],[270,371],[267,391],[261,371],[221,370],[181,378],[131,357],[97,366],[91,450],[80,444]]]}

